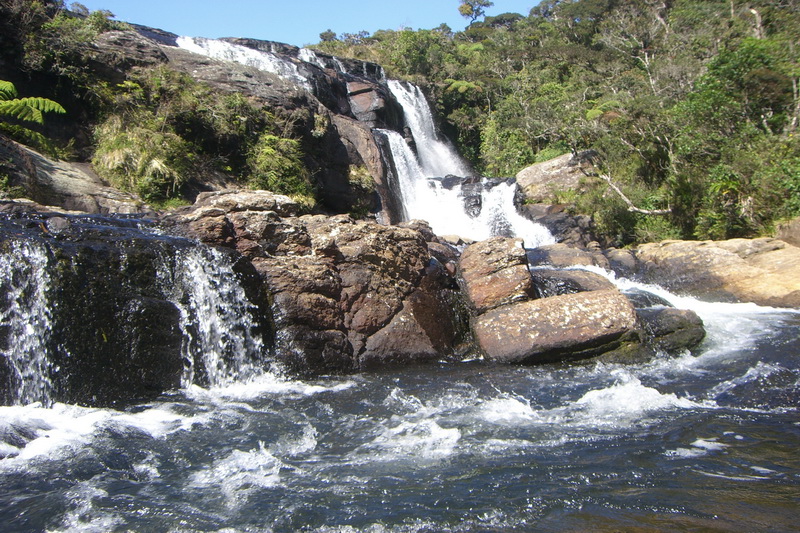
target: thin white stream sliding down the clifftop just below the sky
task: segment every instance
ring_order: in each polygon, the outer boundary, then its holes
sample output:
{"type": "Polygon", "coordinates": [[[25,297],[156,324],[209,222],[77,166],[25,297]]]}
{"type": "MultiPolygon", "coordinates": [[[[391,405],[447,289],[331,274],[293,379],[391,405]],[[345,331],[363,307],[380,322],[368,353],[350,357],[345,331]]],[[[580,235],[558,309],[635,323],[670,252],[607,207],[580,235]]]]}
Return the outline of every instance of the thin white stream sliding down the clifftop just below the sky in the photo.
{"type": "Polygon", "coordinates": [[[196,54],[224,61],[233,61],[258,70],[271,72],[287,81],[296,83],[309,92],[312,91],[311,85],[306,77],[300,73],[297,65],[273,52],[264,52],[227,41],[206,39],[205,37],[178,37],[177,44],[180,48],[196,54]]]}

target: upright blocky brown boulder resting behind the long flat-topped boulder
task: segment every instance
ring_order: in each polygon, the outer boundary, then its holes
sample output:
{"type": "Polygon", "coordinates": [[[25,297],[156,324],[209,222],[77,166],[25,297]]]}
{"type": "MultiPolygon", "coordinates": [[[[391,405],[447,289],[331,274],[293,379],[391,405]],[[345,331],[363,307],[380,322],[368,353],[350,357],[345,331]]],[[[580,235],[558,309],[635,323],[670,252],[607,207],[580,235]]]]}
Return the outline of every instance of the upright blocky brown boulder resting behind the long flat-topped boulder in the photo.
{"type": "Polygon", "coordinates": [[[521,239],[493,237],[468,246],[458,263],[458,278],[477,314],[535,296],[521,239]]]}

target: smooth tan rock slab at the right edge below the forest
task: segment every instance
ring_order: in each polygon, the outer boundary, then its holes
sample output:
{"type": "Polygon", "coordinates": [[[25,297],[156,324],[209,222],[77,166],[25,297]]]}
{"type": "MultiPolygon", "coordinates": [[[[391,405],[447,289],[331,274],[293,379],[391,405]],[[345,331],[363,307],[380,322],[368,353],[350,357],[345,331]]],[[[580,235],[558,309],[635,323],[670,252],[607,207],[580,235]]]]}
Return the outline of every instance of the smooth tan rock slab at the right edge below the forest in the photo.
{"type": "Polygon", "coordinates": [[[800,248],[771,238],[664,241],[636,250],[646,281],[711,298],[800,307],[800,248]]]}

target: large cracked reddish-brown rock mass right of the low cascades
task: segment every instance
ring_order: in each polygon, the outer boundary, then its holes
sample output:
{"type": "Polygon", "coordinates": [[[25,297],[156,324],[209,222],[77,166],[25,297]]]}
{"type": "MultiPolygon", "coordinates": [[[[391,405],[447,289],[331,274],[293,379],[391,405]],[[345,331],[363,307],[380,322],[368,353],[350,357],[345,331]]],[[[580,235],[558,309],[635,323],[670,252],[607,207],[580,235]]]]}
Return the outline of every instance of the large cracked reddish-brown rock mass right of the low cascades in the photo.
{"type": "Polygon", "coordinates": [[[167,221],[253,264],[270,297],[278,359],[299,371],[352,370],[450,357],[465,340],[455,281],[428,251],[430,228],[295,217],[287,200],[215,193],[167,221]]]}

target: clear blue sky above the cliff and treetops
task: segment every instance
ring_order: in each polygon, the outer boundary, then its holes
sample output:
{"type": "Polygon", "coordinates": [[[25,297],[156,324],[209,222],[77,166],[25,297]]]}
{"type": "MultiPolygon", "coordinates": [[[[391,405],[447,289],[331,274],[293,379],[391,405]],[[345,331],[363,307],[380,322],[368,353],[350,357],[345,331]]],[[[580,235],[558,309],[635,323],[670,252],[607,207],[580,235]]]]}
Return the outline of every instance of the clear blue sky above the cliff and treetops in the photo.
{"type": "MultiPolygon", "coordinates": [[[[67,5],[71,4],[67,0],[67,5]]],[[[319,42],[328,28],[338,34],[366,30],[462,30],[459,0],[81,0],[118,20],[192,37],[252,37],[296,46],[319,42]]],[[[488,15],[527,15],[538,0],[494,0],[488,15]]]]}

